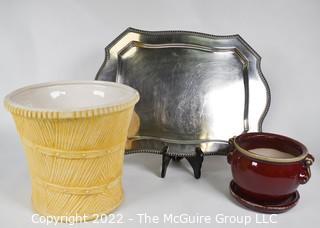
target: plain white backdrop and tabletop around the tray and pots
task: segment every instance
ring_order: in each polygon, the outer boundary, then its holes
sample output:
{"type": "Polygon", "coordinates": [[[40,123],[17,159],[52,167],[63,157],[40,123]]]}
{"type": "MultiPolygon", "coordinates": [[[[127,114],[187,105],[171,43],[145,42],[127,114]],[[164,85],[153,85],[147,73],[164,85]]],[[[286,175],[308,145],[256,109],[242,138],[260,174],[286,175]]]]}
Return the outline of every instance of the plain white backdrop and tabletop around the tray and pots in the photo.
{"type": "MultiPolygon", "coordinates": [[[[262,71],[271,88],[264,131],[296,138],[317,154],[319,23],[317,0],[0,0],[0,98],[27,84],[94,79],[104,59],[104,47],[129,26],[217,35],[238,33],[262,56],[262,71]]],[[[22,148],[13,121],[2,106],[0,117],[1,220],[32,225],[30,184],[22,148]]],[[[127,199],[119,212],[131,215],[148,210],[157,214],[170,208],[175,212],[252,214],[229,198],[231,177],[224,158],[207,159],[198,181],[185,172],[188,166],[184,162],[169,167],[164,180],[157,176],[159,167],[159,158],[126,158],[127,199]],[[143,178],[137,180],[137,176],[143,178]],[[187,200],[196,196],[200,200],[187,200]]],[[[314,201],[319,203],[319,198],[314,200],[312,194],[320,187],[318,163],[313,171],[313,180],[301,188],[300,204],[281,215],[279,223],[298,227],[304,222],[295,216],[300,214],[317,220],[315,212],[320,208],[314,201]]]]}

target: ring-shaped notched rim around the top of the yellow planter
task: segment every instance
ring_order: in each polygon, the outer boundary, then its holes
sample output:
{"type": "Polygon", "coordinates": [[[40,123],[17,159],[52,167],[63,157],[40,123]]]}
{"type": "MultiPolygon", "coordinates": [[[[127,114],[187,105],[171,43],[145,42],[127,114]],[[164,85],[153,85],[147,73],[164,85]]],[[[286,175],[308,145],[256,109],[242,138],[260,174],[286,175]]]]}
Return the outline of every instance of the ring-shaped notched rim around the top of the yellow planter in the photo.
{"type": "Polygon", "coordinates": [[[127,108],[132,107],[135,105],[140,99],[139,92],[135,90],[134,88],[121,84],[116,82],[106,82],[106,81],[58,81],[58,82],[47,82],[47,83],[39,83],[39,84],[33,84],[30,86],[25,86],[20,89],[17,89],[11,93],[9,93],[4,98],[4,106],[6,109],[15,115],[24,116],[27,118],[42,118],[42,119],[75,119],[75,118],[85,118],[85,117],[93,117],[93,116],[99,116],[99,115],[105,115],[108,113],[113,112],[119,112],[122,110],[125,110],[127,108]],[[50,87],[50,86],[63,86],[63,85],[105,85],[105,86],[115,86],[127,90],[131,90],[133,92],[132,98],[126,102],[120,103],[120,104],[106,104],[106,105],[96,105],[92,107],[86,107],[86,108],[75,108],[73,110],[46,110],[46,109],[40,109],[40,108],[31,108],[26,107],[23,105],[19,105],[12,101],[12,97],[27,91],[32,90],[40,87],[50,87]]]}

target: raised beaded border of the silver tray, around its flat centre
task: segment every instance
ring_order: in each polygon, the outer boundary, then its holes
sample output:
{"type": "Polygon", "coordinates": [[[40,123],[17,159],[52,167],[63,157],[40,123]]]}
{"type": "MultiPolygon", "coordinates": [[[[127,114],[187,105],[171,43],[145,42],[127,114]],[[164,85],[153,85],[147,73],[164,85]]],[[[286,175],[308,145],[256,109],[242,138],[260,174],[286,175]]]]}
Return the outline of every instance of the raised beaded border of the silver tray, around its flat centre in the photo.
{"type": "MultiPolygon", "coordinates": [[[[125,77],[129,72],[123,72],[120,59],[131,48],[157,50],[185,48],[203,52],[233,52],[243,64],[245,101],[242,132],[262,130],[262,122],[270,107],[270,88],[261,71],[261,57],[240,35],[217,36],[189,31],[143,31],[128,28],[105,48],[105,59],[95,79],[122,83],[124,80],[121,77],[125,77]]],[[[134,83],[126,84],[135,87],[132,85],[134,83]]],[[[139,91],[139,88],[136,89],[139,91]]],[[[138,114],[140,114],[139,111],[141,112],[137,106],[136,111],[138,114]]],[[[237,132],[237,134],[242,132],[237,132]]],[[[233,136],[228,135],[228,138],[233,136]]],[[[162,148],[169,146],[168,154],[177,157],[192,156],[195,147],[200,147],[204,155],[226,154],[228,138],[177,139],[170,136],[138,134],[130,138],[133,147],[126,153],[161,154],[162,148]]]]}

